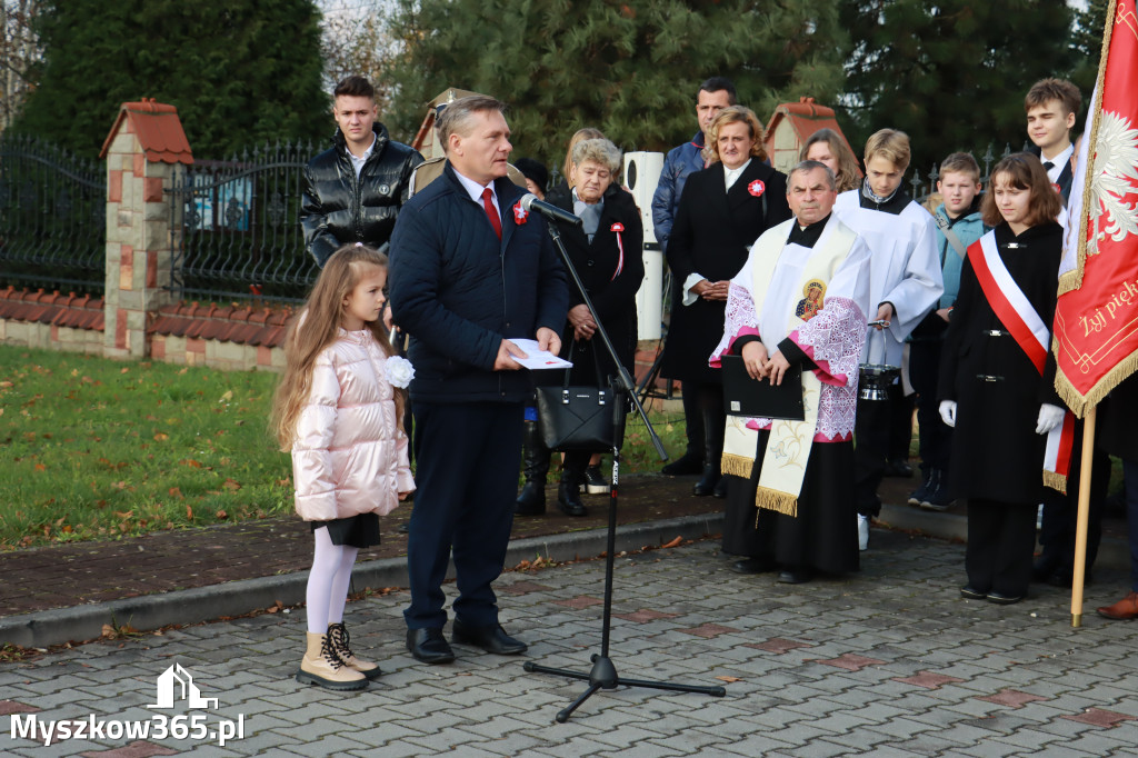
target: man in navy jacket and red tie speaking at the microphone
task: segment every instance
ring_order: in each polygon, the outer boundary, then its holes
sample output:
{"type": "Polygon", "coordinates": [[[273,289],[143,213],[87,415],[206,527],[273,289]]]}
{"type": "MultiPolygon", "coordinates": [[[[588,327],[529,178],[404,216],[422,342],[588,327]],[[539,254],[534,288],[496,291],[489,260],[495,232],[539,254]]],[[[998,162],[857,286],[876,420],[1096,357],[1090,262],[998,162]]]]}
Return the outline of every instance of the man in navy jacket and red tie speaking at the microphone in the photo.
{"type": "Polygon", "coordinates": [[[533,386],[511,339],[559,352],[568,289],[545,221],[521,208],[525,190],[506,179],[504,107],[483,96],[446,107],[436,125],[443,175],[404,205],[391,237],[391,314],[411,335],[419,443],[404,619],[407,650],[427,664],[454,660],[442,590],[452,552],[453,641],[498,654],[526,650],[498,625],[490,587],[510,539],[533,386]]]}

